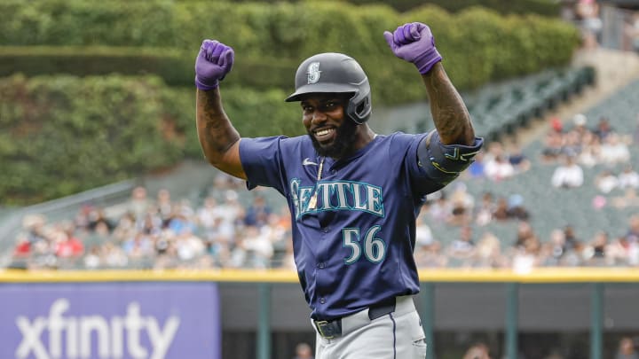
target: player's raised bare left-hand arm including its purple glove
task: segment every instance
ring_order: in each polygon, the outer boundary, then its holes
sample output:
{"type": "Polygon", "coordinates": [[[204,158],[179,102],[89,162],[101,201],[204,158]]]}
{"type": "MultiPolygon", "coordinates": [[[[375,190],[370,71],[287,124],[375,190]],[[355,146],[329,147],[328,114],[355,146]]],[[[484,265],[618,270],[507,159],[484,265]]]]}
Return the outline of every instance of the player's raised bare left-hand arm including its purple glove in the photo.
{"type": "Polygon", "coordinates": [[[240,161],[240,134],[222,107],[219,82],[233,68],[233,49],[204,40],[195,60],[196,122],[204,156],[226,173],[246,179],[240,161]]]}

